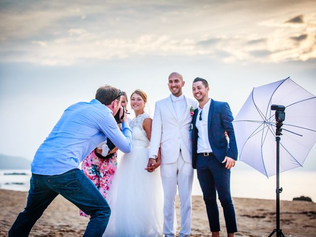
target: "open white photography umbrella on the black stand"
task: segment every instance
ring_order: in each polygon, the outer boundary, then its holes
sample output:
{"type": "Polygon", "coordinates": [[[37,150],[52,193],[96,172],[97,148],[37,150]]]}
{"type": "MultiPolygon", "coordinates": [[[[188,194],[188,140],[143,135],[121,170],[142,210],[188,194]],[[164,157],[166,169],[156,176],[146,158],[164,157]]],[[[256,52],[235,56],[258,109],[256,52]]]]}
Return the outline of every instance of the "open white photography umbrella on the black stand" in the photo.
{"type": "Polygon", "coordinates": [[[239,160],[267,177],[276,174],[276,119],[285,106],[279,171],[302,166],[316,142],[316,97],[290,78],[253,88],[233,121],[239,160]]]}

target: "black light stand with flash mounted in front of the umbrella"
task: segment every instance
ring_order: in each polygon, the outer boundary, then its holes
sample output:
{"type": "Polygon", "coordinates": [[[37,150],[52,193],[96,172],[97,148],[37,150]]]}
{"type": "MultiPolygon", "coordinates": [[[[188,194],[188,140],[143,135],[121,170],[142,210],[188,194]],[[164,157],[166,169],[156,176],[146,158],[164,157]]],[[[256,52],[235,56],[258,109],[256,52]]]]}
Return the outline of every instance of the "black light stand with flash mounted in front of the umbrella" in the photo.
{"type": "Polygon", "coordinates": [[[279,188],[279,163],[280,163],[280,136],[282,135],[282,125],[285,119],[285,107],[282,105],[272,105],[271,110],[276,111],[276,229],[270,234],[272,237],[276,233],[276,237],[285,237],[280,229],[280,193],[283,189],[279,188]]]}

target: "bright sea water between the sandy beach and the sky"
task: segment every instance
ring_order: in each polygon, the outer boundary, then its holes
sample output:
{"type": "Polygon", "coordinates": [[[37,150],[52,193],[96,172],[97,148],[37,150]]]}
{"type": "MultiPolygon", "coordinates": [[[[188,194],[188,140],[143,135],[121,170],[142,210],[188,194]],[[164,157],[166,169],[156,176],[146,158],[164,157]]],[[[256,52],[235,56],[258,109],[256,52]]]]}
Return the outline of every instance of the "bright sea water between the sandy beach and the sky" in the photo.
{"type": "MultiPolygon", "coordinates": [[[[0,170],[0,189],[24,191],[30,188],[31,171],[27,169],[0,170]]],[[[293,197],[311,197],[316,201],[316,171],[289,170],[280,174],[283,191],[280,200],[293,197]]],[[[256,170],[234,170],[231,172],[232,197],[276,199],[276,176],[269,179],[256,170]]],[[[192,195],[202,196],[195,170],[192,195]]]]}

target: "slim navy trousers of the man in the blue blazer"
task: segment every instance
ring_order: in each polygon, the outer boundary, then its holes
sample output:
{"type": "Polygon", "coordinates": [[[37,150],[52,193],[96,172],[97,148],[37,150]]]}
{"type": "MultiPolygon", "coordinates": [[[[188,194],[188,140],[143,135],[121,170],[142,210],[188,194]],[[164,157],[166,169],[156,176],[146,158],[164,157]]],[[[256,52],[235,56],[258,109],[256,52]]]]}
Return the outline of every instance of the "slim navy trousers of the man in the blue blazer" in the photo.
{"type": "Polygon", "coordinates": [[[214,155],[197,155],[197,178],[203,192],[211,232],[220,231],[216,191],[224,211],[227,233],[237,232],[235,209],[230,191],[230,169],[214,155]]]}

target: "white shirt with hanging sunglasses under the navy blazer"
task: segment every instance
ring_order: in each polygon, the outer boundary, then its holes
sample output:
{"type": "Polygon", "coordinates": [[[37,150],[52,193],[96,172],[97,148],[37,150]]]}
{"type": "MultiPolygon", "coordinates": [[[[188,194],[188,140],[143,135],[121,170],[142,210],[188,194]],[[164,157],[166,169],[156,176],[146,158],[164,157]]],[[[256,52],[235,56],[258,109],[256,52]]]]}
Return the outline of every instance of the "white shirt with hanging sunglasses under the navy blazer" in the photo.
{"type": "Polygon", "coordinates": [[[211,148],[211,145],[209,145],[209,140],[208,140],[208,126],[207,126],[208,112],[209,112],[210,105],[211,105],[211,99],[207,101],[203,109],[199,108],[199,106],[197,107],[197,110],[198,110],[197,121],[196,121],[196,127],[198,130],[197,153],[212,152],[212,148],[211,148]],[[202,120],[199,120],[201,112],[202,112],[202,120]]]}

